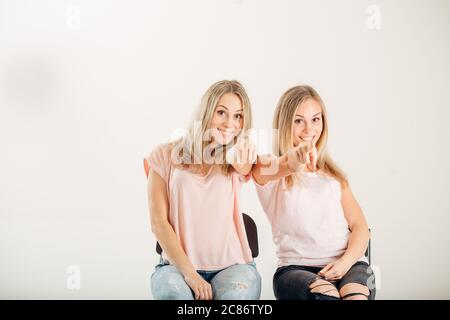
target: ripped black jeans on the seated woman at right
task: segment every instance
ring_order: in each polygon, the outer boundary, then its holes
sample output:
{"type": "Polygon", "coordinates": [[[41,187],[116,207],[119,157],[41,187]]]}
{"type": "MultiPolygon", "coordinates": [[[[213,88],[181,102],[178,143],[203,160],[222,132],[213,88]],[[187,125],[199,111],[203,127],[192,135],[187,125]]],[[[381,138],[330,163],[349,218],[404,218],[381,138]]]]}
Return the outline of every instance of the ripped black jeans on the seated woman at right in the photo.
{"type": "MultiPolygon", "coordinates": [[[[273,291],[277,300],[339,300],[321,293],[311,293],[310,285],[320,279],[319,267],[284,266],[273,276],[273,291]]],[[[358,283],[369,289],[369,300],[375,299],[375,276],[372,268],[365,262],[356,262],[342,279],[334,282],[339,291],[349,283],[358,283]]]]}

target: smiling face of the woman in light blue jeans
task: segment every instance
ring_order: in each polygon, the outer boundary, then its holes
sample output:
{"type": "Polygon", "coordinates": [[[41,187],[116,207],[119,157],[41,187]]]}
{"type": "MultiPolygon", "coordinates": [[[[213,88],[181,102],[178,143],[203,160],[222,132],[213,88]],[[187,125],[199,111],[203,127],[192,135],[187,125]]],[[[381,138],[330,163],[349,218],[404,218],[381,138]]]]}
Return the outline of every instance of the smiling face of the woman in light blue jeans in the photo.
{"type": "Polygon", "coordinates": [[[210,129],[216,132],[215,140],[223,145],[230,143],[242,129],[243,119],[244,110],[239,96],[234,93],[222,95],[215,107],[210,125],[210,129]]]}

